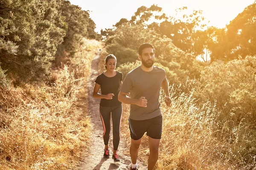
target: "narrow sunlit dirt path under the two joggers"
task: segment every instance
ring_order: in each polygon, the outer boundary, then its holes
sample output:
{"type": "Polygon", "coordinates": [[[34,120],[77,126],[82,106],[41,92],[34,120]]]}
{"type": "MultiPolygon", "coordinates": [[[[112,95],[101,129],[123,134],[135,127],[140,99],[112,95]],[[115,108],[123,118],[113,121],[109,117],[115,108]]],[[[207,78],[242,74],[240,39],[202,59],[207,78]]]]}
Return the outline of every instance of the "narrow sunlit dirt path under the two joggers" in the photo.
{"type": "MultiPolygon", "coordinates": [[[[95,58],[92,61],[91,65],[91,71],[90,71],[90,77],[88,80],[88,105],[90,109],[90,116],[92,120],[92,146],[90,147],[90,150],[85,151],[84,158],[81,160],[79,164],[79,170],[129,170],[131,165],[131,159],[130,156],[124,155],[124,150],[127,150],[127,148],[124,144],[124,142],[121,139],[119,144],[119,159],[120,162],[114,162],[113,159],[105,159],[103,158],[104,153],[104,143],[103,143],[103,127],[102,122],[99,116],[99,102],[100,99],[93,98],[92,92],[94,88],[94,83],[96,77],[99,75],[98,73],[98,65],[99,65],[99,54],[96,54],[95,58]]],[[[122,122],[122,123],[128,123],[128,122],[122,122]]],[[[111,128],[111,134],[112,134],[112,128],[111,128]]],[[[129,139],[130,140],[130,139],[129,139]]],[[[112,152],[112,135],[110,137],[109,141],[109,148],[110,153],[112,152]]],[[[146,170],[147,167],[145,164],[141,161],[138,161],[139,164],[139,170],[146,170]]]]}

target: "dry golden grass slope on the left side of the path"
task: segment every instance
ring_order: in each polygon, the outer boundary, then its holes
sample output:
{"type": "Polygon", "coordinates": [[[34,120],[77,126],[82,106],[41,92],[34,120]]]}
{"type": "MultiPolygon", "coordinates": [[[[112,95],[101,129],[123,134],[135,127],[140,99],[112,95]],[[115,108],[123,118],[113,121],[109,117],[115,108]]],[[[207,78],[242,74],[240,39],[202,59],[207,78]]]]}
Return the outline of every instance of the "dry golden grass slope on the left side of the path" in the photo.
{"type": "Polygon", "coordinates": [[[0,169],[73,169],[90,143],[86,84],[97,48],[84,40],[47,84],[0,88],[0,169]]]}

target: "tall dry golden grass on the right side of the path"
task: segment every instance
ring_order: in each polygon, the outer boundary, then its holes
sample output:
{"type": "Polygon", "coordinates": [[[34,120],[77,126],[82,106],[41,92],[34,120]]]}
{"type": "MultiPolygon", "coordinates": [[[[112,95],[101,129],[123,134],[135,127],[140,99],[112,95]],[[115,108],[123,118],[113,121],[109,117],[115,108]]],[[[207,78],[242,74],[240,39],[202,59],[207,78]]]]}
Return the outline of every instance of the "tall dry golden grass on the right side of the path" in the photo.
{"type": "MultiPolygon", "coordinates": [[[[171,107],[166,107],[161,92],[163,134],[156,170],[256,170],[256,133],[250,123],[228,130],[229,119],[220,120],[214,104],[196,105],[193,91],[170,91],[171,107]]],[[[129,139],[129,105],[123,104],[123,108],[121,136],[129,139]]],[[[144,135],[139,158],[147,163],[148,155],[148,139],[144,135]]]]}

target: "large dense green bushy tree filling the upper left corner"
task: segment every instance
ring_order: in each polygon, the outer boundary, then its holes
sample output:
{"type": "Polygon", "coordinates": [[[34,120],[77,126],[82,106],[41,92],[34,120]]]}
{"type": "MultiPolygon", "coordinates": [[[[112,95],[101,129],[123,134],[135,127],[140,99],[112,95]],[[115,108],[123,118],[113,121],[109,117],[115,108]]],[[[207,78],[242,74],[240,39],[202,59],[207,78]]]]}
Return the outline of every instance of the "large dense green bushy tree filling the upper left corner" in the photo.
{"type": "Polygon", "coordinates": [[[52,22],[58,14],[48,17],[51,12],[47,10],[57,8],[54,4],[46,1],[2,1],[0,62],[14,79],[41,79],[49,75],[49,63],[56,51],[54,42],[61,43],[61,38],[54,33],[64,34],[54,24],[57,22],[52,22]]]}

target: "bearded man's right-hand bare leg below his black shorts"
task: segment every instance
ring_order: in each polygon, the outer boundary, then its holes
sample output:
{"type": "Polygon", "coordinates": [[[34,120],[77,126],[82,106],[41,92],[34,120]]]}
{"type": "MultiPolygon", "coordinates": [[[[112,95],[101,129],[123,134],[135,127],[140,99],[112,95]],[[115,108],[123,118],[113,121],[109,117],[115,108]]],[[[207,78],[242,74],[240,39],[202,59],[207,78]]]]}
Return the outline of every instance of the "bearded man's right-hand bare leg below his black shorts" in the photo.
{"type": "Polygon", "coordinates": [[[148,157],[148,170],[153,170],[158,159],[158,147],[160,139],[153,139],[148,136],[149,142],[149,157],[148,157]]]}

